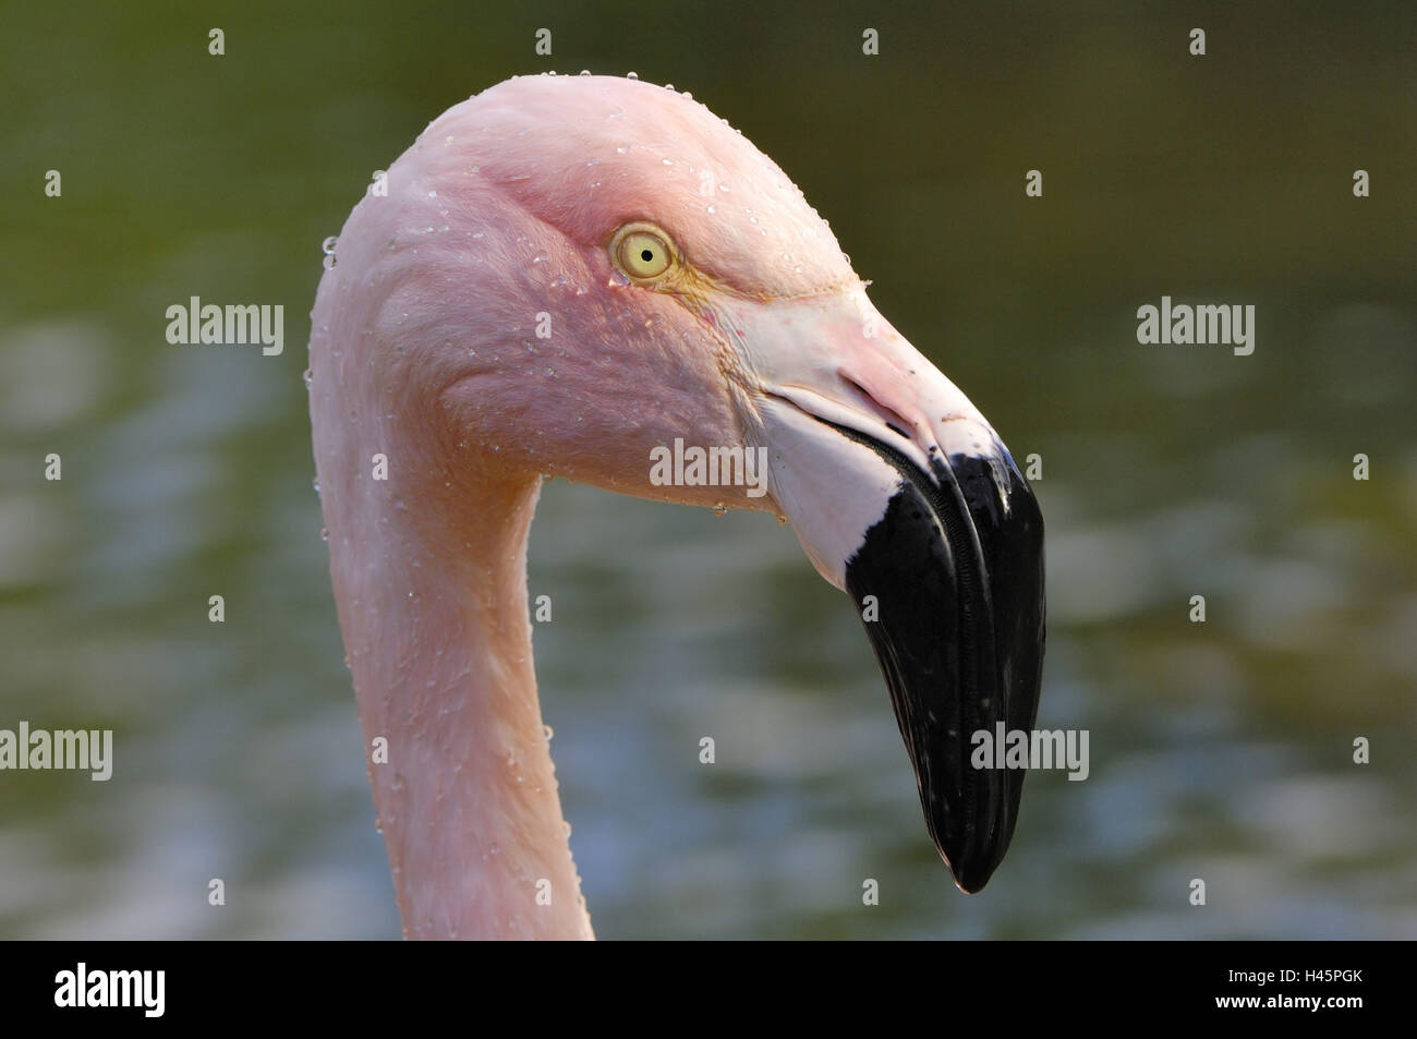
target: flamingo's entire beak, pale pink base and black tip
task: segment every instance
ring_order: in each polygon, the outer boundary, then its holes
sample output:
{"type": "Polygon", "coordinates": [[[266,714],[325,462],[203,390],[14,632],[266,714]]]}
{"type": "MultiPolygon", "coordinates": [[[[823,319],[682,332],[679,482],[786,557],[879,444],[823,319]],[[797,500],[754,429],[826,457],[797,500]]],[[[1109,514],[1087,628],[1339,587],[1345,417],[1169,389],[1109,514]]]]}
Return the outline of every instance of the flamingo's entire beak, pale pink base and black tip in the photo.
{"type": "Polygon", "coordinates": [[[856,601],[925,825],[978,892],[1009,848],[1024,771],[975,767],[973,737],[1037,714],[1043,517],[983,415],[857,295],[758,310],[738,342],[764,384],[774,500],[856,601]]]}

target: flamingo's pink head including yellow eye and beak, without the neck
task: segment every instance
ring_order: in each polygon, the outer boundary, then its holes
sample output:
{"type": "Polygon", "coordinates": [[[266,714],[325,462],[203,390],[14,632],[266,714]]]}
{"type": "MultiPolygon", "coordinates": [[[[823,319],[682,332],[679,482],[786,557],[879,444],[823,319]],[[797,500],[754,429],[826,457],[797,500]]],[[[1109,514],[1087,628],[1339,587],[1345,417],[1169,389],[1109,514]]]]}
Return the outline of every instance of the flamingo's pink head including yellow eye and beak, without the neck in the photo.
{"type": "Polygon", "coordinates": [[[339,237],[368,363],[489,472],[785,517],[857,604],[956,884],[989,879],[1043,658],[1043,523],[983,415],[778,166],[686,95],[523,77],[434,120],[339,237]],[[469,447],[470,445],[470,447],[469,447]],[[989,761],[988,764],[993,764],[989,761]]]}

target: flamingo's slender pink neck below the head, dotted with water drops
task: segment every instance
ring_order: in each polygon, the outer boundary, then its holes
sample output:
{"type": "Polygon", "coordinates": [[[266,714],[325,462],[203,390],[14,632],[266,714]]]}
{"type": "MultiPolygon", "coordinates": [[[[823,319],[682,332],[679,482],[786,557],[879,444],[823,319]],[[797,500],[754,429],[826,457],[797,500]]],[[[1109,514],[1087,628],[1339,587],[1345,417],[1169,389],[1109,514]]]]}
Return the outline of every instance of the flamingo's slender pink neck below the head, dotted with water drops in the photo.
{"type": "Polygon", "coordinates": [[[526,547],[540,478],[469,488],[463,469],[455,486],[445,466],[414,464],[428,458],[427,437],[401,444],[385,425],[383,438],[394,448],[385,483],[360,466],[370,454],[359,448],[353,466],[319,461],[404,934],[594,937],[531,661],[526,547]]]}

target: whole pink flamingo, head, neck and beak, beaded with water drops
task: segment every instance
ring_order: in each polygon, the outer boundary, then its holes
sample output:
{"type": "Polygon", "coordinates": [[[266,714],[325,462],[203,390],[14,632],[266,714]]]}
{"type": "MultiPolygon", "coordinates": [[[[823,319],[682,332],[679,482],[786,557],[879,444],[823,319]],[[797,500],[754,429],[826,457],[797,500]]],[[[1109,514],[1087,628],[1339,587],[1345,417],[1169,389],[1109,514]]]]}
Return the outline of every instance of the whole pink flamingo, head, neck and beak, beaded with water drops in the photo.
{"type": "Polygon", "coordinates": [[[531,661],[548,476],[791,523],[854,600],[927,829],[979,890],[1023,773],[971,767],[971,734],[1034,721],[1041,516],[794,183],[687,95],[533,75],[448,109],[376,187],[320,279],[307,383],[405,937],[594,937],[531,661]],[[676,439],[724,472],[762,452],[760,493],[652,479],[676,439]]]}

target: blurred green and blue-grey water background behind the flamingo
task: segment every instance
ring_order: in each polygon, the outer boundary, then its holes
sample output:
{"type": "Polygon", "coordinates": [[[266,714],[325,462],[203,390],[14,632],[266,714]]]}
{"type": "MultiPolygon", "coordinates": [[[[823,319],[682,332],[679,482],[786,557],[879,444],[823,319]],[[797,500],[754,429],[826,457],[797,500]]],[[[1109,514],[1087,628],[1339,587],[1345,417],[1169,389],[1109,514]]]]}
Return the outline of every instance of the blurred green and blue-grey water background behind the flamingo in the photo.
{"type": "Polygon", "coordinates": [[[0,727],[116,730],[106,784],[0,774],[0,937],[398,934],[310,486],[320,241],[446,106],[582,68],[741,128],[1043,456],[1040,726],[1091,730],[965,897],[791,532],[553,483],[536,652],[598,933],[1417,936],[1417,7],[0,7],[0,727]],[[1139,346],[1163,293],[1254,303],[1254,354],[1139,346]],[[283,356],[169,346],[193,295],[283,303],[283,356]]]}

